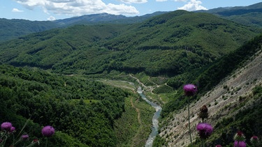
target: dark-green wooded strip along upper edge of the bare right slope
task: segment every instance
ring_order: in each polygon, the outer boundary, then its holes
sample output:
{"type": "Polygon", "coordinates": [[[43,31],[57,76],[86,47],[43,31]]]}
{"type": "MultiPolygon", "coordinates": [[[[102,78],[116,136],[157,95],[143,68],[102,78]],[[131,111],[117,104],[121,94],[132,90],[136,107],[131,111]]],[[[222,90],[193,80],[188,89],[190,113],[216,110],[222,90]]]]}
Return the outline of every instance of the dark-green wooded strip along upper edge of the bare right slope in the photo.
{"type": "MultiPolygon", "coordinates": [[[[242,45],[235,51],[227,54],[221,59],[215,61],[211,65],[207,67],[203,67],[199,70],[195,70],[191,72],[191,76],[180,77],[180,80],[184,80],[184,83],[194,82],[197,83],[199,87],[198,93],[205,94],[210,91],[214,86],[217,86],[222,79],[230,75],[234,70],[240,68],[245,61],[248,61],[251,56],[253,56],[256,52],[261,50],[262,45],[262,35],[256,36],[245,45],[242,45]],[[188,79],[189,78],[189,79],[188,79]]],[[[176,78],[175,78],[176,79],[176,78]]],[[[169,85],[172,86],[172,79],[168,82],[169,85]]],[[[175,81],[177,82],[177,81],[175,81]]],[[[181,85],[180,85],[181,86],[181,85]]],[[[170,112],[175,111],[177,109],[181,109],[184,106],[184,100],[181,99],[183,91],[180,89],[176,95],[173,95],[172,98],[164,107],[162,116],[167,116],[170,112]]]]}

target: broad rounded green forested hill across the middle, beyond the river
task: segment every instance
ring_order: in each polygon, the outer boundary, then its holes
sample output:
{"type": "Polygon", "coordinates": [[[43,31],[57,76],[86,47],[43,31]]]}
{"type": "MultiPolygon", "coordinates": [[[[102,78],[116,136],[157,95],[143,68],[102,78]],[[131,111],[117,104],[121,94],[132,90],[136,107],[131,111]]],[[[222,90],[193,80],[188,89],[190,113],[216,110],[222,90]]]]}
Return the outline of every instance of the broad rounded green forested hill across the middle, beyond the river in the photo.
{"type": "Polygon", "coordinates": [[[77,25],[1,43],[1,63],[64,74],[179,75],[237,49],[261,30],[177,10],[138,24],[77,25]]]}

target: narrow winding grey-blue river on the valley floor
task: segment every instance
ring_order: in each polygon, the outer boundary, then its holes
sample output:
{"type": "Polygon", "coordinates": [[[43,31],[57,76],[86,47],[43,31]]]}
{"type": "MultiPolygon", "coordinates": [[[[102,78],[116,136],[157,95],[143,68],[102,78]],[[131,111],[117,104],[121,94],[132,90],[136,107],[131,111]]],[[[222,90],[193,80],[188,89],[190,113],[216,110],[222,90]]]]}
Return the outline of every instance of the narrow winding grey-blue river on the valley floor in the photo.
{"type": "Polygon", "coordinates": [[[156,112],[154,113],[154,116],[152,118],[152,132],[150,134],[150,137],[148,137],[147,142],[145,144],[145,147],[151,147],[153,145],[153,141],[154,139],[157,137],[157,134],[159,134],[158,130],[159,130],[159,116],[160,113],[162,111],[162,108],[155,104],[154,102],[151,102],[150,100],[147,100],[147,98],[145,97],[145,95],[143,94],[143,90],[141,89],[141,87],[138,88],[138,93],[141,96],[141,98],[143,98],[143,100],[145,100],[148,104],[150,104],[152,107],[154,107],[154,109],[156,109],[156,112]]]}

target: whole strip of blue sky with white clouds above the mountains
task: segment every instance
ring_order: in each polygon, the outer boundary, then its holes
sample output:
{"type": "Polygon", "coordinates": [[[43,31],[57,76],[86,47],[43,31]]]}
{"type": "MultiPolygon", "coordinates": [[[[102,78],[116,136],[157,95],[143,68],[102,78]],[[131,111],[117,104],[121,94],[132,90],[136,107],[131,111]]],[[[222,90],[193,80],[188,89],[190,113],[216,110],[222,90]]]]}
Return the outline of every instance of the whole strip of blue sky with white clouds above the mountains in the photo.
{"type": "Polygon", "coordinates": [[[139,16],[156,11],[207,10],[259,2],[261,0],[0,0],[0,18],[42,21],[96,13],[139,16]]]}

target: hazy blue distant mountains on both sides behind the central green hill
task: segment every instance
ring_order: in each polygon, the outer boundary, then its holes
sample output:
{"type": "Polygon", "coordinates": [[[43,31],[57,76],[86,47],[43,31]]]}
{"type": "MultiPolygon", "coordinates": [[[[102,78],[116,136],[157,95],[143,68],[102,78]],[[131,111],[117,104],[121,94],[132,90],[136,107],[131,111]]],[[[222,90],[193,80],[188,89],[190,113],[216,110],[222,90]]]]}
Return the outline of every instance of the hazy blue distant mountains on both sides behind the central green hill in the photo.
{"type": "MultiPolygon", "coordinates": [[[[262,3],[251,6],[237,6],[226,8],[214,8],[210,10],[198,10],[196,13],[211,13],[227,20],[240,24],[262,27],[262,3]]],[[[23,36],[29,33],[46,31],[49,29],[67,27],[75,24],[134,24],[143,22],[151,17],[169,12],[155,12],[152,14],[126,17],[124,15],[110,15],[107,13],[82,15],[64,20],[55,21],[29,21],[0,19],[0,42],[23,36]]]]}

